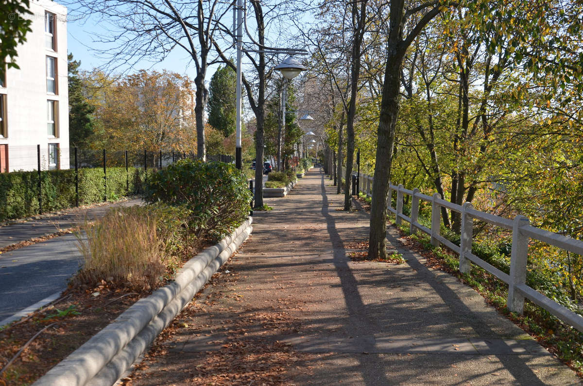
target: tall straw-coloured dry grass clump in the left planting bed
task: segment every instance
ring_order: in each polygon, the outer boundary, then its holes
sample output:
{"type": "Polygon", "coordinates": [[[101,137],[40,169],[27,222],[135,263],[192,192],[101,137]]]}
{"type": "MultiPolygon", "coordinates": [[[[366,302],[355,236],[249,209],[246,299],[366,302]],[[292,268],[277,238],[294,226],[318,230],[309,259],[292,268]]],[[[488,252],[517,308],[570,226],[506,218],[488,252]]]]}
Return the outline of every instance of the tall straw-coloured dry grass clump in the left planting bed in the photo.
{"type": "Polygon", "coordinates": [[[78,237],[85,264],[73,285],[92,286],[105,280],[138,291],[156,287],[167,266],[177,264],[173,252],[180,237],[177,229],[183,229],[178,220],[168,220],[168,211],[174,209],[117,208],[87,227],[87,237],[78,237]]]}

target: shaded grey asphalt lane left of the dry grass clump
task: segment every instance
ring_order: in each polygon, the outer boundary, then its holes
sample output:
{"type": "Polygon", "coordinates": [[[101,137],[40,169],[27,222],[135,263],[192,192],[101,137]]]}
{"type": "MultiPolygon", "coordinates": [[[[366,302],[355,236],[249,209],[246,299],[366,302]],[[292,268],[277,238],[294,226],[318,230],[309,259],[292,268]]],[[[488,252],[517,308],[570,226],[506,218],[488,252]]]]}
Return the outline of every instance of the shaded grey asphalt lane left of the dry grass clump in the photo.
{"type": "Polygon", "coordinates": [[[74,234],[0,255],[0,321],[65,289],[78,271],[74,234]]]}

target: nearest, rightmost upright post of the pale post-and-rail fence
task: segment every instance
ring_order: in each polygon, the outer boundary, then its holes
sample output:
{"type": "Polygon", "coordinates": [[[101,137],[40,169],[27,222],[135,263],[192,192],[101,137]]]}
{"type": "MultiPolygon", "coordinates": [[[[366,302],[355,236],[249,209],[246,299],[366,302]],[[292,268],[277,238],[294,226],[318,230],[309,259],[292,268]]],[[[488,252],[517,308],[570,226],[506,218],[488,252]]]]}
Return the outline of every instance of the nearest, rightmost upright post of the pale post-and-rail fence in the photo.
{"type": "Polygon", "coordinates": [[[508,308],[513,313],[524,311],[524,295],[517,285],[526,282],[526,261],[528,260],[528,236],[520,232],[521,227],[528,226],[529,220],[521,215],[514,217],[512,226],[512,250],[510,252],[510,283],[508,283],[508,308]]]}

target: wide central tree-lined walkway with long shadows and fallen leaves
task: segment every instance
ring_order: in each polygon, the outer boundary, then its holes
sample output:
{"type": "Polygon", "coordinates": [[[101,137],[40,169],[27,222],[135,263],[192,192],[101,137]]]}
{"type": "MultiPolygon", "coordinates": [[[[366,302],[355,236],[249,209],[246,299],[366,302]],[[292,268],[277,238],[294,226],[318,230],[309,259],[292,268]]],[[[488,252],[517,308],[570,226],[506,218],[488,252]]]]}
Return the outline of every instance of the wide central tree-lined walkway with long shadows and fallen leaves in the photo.
{"type": "Polygon", "coordinates": [[[482,296],[404,250],[352,262],[368,215],[312,169],[173,323],[132,385],[523,384],[581,380],[482,296]]]}

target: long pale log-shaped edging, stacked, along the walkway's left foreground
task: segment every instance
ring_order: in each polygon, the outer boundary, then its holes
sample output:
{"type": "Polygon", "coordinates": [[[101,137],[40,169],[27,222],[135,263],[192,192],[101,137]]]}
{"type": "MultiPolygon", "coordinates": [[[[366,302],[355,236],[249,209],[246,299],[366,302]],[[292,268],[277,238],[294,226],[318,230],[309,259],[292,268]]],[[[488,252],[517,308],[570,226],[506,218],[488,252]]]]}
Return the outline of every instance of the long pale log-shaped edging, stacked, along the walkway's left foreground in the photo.
{"type": "Polygon", "coordinates": [[[220,243],[190,259],[174,282],[136,301],[34,385],[113,385],[247,239],[251,223],[250,217],[220,243]]]}

